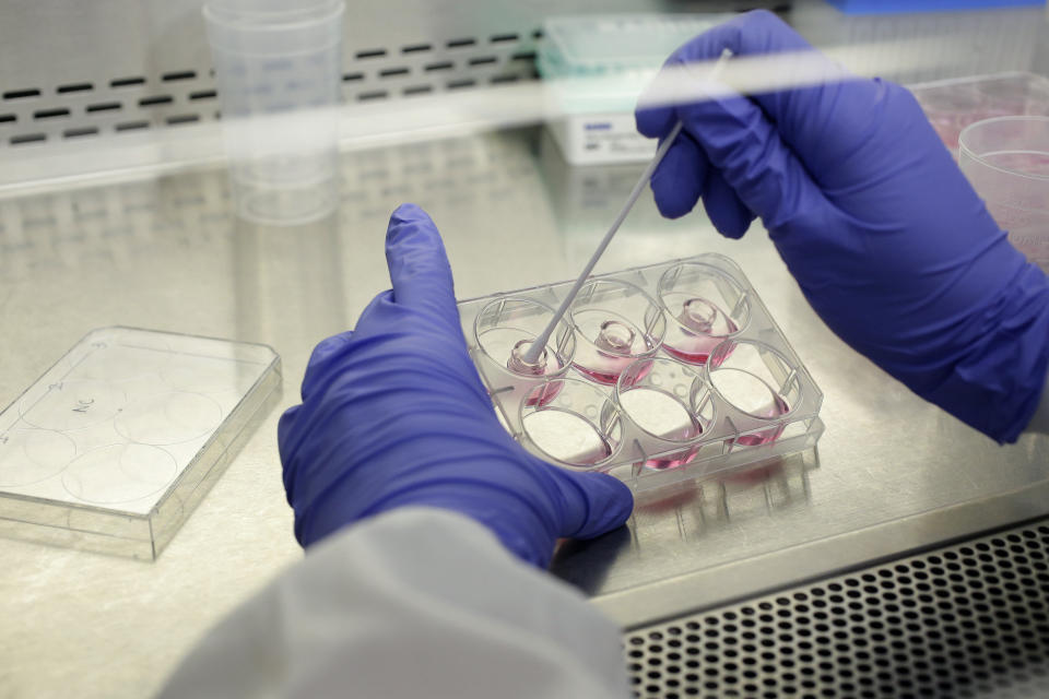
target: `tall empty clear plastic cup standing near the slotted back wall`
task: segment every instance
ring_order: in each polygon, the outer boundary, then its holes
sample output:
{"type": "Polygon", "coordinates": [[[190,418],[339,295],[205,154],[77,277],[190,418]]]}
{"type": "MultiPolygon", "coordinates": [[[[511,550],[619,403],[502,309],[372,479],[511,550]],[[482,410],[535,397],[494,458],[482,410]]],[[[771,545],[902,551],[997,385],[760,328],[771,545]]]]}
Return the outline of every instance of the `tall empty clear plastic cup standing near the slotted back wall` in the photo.
{"type": "Polygon", "coordinates": [[[209,0],[237,213],[294,225],[339,202],[343,0],[209,0]]]}

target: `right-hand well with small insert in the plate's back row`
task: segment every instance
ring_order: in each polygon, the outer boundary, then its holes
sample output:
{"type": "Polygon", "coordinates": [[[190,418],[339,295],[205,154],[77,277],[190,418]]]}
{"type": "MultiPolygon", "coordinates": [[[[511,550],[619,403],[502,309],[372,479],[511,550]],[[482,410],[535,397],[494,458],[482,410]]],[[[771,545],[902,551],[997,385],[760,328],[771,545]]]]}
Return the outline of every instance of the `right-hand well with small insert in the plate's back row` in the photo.
{"type": "Polygon", "coordinates": [[[746,291],[710,264],[670,268],[656,293],[669,319],[663,351],[688,364],[706,364],[710,352],[743,331],[751,319],[746,291]]]}

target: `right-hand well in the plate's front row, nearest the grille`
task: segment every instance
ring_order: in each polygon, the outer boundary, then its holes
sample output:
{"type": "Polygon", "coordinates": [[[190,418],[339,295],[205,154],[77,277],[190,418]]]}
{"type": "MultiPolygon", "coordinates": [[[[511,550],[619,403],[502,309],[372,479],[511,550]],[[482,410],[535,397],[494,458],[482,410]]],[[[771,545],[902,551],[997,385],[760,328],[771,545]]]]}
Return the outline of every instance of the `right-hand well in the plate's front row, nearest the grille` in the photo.
{"type": "MultiPolygon", "coordinates": [[[[801,400],[795,367],[765,343],[752,340],[724,342],[715,347],[706,368],[707,381],[714,392],[751,417],[780,420],[801,400]]],[[[783,427],[779,423],[769,429],[743,435],[734,441],[744,446],[775,441],[783,427]]]]}

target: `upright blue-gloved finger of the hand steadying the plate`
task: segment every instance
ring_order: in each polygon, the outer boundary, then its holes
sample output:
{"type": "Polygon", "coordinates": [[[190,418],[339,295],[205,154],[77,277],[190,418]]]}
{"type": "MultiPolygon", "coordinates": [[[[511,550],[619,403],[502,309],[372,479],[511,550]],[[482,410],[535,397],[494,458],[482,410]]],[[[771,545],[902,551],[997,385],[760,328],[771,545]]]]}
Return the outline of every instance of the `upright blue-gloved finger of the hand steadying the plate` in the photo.
{"type": "Polygon", "coordinates": [[[393,299],[403,306],[457,319],[451,266],[437,226],[415,204],[401,204],[386,232],[386,262],[393,299]]]}

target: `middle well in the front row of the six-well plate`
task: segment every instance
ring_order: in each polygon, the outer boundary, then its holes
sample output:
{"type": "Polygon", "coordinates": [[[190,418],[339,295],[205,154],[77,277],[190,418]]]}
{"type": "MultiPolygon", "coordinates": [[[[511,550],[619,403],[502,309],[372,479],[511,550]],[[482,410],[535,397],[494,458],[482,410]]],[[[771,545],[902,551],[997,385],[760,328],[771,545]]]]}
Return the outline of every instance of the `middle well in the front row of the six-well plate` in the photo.
{"type": "Polygon", "coordinates": [[[709,387],[694,369],[672,359],[638,359],[620,375],[614,398],[646,435],[646,451],[658,454],[645,460],[643,465],[649,469],[674,469],[692,461],[699,449],[696,442],[714,423],[709,387]],[[681,445],[688,446],[671,451],[681,445]]]}

